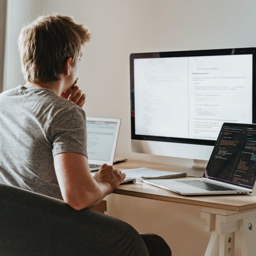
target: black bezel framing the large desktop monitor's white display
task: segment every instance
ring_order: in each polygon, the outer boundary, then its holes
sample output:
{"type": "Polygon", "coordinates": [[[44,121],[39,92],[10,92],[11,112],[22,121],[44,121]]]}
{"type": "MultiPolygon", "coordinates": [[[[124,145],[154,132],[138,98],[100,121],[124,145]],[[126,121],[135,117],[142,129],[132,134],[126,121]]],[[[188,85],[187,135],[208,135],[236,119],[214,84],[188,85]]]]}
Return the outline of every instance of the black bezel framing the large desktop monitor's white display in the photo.
{"type": "Polygon", "coordinates": [[[216,140],[201,140],[135,134],[134,59],[252,54],[252,123],[256,123],[256,48],[230,48],[130,54],[131,139],[214,146],[216,140]]]}

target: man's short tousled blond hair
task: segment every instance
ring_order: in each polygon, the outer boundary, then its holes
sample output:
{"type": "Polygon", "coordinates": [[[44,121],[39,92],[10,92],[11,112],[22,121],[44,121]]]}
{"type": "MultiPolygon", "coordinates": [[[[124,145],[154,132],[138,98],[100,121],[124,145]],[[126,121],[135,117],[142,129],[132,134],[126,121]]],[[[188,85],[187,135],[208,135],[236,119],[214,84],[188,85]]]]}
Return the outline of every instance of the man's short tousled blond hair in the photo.
{"type": "Polygon", "coordinates": [[[26,82],[44,83],[59,80],[65,61],[71,65],[90,40],[89,30],[68,16],[40,16],[24,26],[18,39],[22,73],[26,82]]]}

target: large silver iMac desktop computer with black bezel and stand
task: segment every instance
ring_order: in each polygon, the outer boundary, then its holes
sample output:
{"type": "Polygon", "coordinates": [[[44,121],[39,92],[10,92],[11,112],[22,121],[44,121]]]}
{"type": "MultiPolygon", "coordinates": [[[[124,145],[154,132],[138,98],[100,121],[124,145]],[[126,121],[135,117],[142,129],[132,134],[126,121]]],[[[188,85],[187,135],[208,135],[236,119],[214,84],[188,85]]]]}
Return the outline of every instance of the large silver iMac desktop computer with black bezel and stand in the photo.
{"type": "Polygon", "coordinates": [[[132,151],[194,159],[202,177],[223,123],[256,123],[256,48],[132,53],[132,151]]]}

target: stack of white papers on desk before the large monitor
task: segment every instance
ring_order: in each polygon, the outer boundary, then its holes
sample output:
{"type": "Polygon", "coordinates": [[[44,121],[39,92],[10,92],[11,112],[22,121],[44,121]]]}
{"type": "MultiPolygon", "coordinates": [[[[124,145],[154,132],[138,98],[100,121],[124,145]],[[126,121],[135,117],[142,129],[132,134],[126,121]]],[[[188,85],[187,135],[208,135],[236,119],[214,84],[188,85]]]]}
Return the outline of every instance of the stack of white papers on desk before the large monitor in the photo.
{"type": "Polygon", "coordinates": [[[185,177],[187,173],[167,172],[161,170],[153,170],[146,167],[138,169],[122,170],[126,174],[126,178],[136,178],[137,181],[150,179],[170,179],[185,177]]]}

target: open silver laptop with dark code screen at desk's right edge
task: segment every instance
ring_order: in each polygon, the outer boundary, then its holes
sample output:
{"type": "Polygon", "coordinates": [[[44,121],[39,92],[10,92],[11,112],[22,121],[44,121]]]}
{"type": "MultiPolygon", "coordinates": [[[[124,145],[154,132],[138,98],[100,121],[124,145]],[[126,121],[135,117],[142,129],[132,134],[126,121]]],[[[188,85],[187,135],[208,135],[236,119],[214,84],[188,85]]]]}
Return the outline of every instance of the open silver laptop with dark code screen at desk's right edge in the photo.
{"type": "Polygon", "coordinates": [[[201,179],[143,180],[181,195],[252,193],[256,180],[256,125],[224,123],[201,179]]]}

